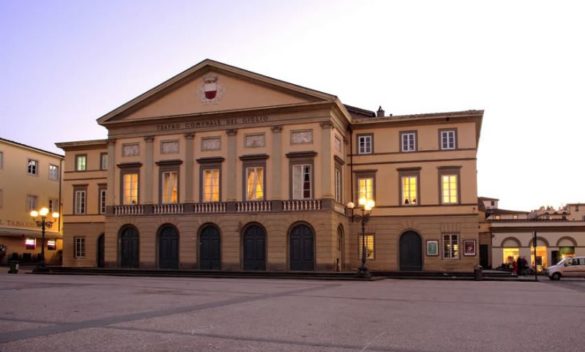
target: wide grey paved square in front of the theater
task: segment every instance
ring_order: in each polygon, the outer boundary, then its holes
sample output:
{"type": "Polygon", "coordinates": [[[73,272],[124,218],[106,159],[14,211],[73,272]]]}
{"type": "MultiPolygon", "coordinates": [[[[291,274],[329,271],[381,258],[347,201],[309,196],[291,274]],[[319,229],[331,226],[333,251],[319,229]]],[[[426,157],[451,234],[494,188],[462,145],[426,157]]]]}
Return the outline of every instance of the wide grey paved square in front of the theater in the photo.
{"type": "Polygon", "coordinates": [[[583,351],[585,280],[0,274],[0,351],[583,351]]]}

